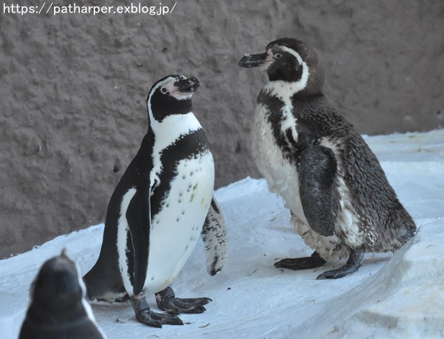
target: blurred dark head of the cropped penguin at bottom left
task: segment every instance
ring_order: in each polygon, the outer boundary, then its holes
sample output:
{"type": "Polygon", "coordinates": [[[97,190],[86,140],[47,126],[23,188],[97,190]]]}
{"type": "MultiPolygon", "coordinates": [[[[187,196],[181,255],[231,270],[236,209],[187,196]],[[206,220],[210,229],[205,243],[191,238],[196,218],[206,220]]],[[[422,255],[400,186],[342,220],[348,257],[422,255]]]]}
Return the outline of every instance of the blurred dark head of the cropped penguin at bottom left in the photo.
{"type": "Polygon", "coordinates": [[[63,317],[82,306],[85,285],[78,267],[62,251],[60,256],[46,261],[31,286],[31,308],[54,319],[63,317]]]}

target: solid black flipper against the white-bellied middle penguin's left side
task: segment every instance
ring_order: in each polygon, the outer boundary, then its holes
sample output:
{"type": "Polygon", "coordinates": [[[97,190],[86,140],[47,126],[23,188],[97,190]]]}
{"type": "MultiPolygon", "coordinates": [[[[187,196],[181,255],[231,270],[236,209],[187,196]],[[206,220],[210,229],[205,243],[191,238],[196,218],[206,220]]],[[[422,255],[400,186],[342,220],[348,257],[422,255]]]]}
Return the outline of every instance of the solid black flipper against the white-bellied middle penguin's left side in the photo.
{"type": "Polygon", "coordinates": [[[133,293],[138,295],[145,286],[148,268],[149,233],[151,225],[150,200],[145,190],[137,190],[126,210],[134,258],[133,293]]]}

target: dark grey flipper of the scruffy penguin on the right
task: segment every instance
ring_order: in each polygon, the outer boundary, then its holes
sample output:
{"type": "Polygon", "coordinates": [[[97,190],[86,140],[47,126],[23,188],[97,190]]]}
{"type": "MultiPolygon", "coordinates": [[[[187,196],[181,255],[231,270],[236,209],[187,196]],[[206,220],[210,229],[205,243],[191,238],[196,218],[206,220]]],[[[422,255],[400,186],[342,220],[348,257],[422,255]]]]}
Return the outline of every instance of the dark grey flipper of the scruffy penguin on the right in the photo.
{"type": "Polygon", "coordinates": [[[299,195],[311,229],[324,236],[333,235],[332,188],[336,159],[331,149],[311,144],[300,153],[299,195]]]}

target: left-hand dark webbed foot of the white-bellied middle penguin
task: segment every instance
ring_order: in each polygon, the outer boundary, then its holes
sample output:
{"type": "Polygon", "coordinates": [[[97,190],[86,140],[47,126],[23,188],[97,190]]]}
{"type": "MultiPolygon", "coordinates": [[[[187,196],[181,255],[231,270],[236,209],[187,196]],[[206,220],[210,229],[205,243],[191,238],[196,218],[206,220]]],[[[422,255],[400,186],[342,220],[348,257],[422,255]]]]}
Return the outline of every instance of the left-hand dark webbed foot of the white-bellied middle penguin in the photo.
{"type": "Polygon", "coordinates": [[[143,324],[153,327],[162,327],[162,325],[183,325],[182,320],[174,315],[151,311],[146,303],[146,297],[143,292],[139,293],[139,295],[133,295],[130,299],[137,320],[143,324]]]}

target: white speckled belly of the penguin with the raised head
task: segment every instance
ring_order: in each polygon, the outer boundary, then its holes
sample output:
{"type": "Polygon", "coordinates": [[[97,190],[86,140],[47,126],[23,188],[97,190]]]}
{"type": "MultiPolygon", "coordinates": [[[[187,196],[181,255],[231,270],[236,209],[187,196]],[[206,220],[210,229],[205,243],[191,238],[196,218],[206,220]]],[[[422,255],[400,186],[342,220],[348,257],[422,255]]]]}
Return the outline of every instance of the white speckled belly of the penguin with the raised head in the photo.
{"type": "Polygon", "coordinates": [[[214,164],[207,152],[182,160],[159,214],[152,217],[145,292],[163,290],[176,279],[202,231],[214,189],[214,164]],[[185,179],[182,174],[185,175],[185,179]]]}

